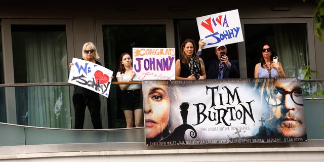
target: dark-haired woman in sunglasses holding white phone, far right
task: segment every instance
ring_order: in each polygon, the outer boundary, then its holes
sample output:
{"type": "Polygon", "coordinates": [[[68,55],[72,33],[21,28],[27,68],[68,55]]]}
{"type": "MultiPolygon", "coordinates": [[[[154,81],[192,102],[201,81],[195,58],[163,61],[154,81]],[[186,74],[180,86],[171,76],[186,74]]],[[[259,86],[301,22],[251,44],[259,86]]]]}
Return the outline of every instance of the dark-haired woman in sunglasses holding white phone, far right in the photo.
{"type": "Polygon", "coordinates": [[[260,47],[260,62],[255,65],[254,77],[286,77],[280,62],[277,61],[276,53],[269,43],[260,47]],[[275,58],[275,60],[273,60],[275,58]]]}

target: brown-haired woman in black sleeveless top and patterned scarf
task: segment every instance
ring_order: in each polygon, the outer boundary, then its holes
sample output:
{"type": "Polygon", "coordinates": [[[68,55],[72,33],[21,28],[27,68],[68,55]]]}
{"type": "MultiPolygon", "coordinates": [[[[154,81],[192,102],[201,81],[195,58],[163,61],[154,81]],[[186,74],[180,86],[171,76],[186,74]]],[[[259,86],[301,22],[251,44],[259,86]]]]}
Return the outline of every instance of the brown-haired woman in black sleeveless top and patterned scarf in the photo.
{"type": "Polygon", "coordinates": [[[196,53],[192,39],[181,45],[181,58],[176,61],[176,79],[206,79],[205,64],[196,53]]]}

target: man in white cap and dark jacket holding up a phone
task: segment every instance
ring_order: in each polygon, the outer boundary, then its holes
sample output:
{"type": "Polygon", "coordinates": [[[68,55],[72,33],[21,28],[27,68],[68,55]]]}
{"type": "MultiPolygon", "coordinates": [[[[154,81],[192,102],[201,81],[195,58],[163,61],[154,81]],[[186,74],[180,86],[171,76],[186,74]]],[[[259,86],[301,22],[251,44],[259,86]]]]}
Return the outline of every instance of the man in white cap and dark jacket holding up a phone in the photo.
{"type": "MultiPolygon", "coordinates": [[[[204,42],[199,42],[205,46],[204,42]]],[[[207,79],[239,78],[239,67],[237,60],[229,60],[225,45],[215,47],[216,56],[205,62],[207,79]]],[[[198,49],[197,55],[201,55],[198,49]]]]}

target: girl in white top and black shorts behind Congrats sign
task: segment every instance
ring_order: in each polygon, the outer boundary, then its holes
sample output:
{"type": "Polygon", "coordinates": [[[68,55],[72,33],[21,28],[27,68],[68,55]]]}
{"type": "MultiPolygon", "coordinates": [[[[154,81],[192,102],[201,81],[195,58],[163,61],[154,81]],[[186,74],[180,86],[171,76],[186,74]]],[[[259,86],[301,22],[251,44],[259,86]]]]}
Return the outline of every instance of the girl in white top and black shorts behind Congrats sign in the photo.
{"type": "MultiPolygon", "coordinates": [[[[129,53],[123,53],[120,55],[119,69],[116,74],[118,82],[131,82],[133,80],[136,73],[133,71],[132,61],[133,60],[129,53]]],[[[119,85],[119,88],[123,91],[123,102],[121,102],[120,107],[124,111],[126,127],[132,128],[134,126],[134,121],[136,127],[142,127],[143,108],[141,108],[140,105],[141,85],[119,85]]]]}

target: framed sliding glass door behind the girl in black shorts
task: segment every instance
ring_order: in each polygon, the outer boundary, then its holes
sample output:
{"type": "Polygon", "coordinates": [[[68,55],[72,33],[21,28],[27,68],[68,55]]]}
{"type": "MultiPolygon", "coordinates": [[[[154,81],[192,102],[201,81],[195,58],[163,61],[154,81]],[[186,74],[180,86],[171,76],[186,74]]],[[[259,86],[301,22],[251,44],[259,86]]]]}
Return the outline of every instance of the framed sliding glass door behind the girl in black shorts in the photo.
{"type": "MultiPolygon", "coordinates": [[[[103,39],[104,66],[114,71],[119,68],[119,57],[127,52],[132,55],[133,48],[174,48],[172,23],[167,20],[97,20],[98,38],[103,39]],[[169,40],[168,40],[169,38],[169,40]],[[168,45],[169,43],[169,45],[168,45]]],[[[98,40],[100,42],[100,40],[98,40]]],[[[98,45],[100,49],[100,45],[98,45]]],[[[123,111],[120,109],[121,91],[118,85],[112,85],[107,99],[108,127],[126,128],[123,111]]]]}

